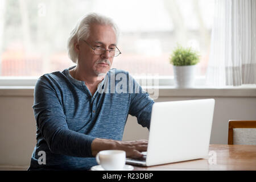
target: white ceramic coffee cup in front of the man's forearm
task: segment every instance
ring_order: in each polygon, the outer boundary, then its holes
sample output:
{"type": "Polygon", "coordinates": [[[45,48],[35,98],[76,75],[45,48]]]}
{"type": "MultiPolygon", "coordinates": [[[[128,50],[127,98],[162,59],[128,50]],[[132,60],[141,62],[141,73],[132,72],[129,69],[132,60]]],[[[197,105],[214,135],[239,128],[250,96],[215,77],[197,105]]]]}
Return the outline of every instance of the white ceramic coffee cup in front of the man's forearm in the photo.
{"type": "Polygon", "coordinates": [[[126,152],[123,150],[102,150],[96,161],[107,171],[120,171],[125,167],[126,152]]]}

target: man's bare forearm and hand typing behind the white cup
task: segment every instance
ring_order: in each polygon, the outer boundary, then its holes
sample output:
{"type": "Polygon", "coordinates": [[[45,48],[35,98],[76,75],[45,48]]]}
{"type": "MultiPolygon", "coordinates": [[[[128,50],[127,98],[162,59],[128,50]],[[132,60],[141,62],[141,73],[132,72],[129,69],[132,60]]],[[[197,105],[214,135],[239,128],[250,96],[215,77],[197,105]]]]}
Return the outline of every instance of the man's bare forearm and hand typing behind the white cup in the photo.
{"type": "Polygon", "coordinates": [[[126,157],[141,158],[141,152],[147,151],[147,140],[135,140],[122,142],[110,139],[96,138],[92,142],[92,155],[96,156],[102,150],[123,150],[126,151],[126,157]]]}

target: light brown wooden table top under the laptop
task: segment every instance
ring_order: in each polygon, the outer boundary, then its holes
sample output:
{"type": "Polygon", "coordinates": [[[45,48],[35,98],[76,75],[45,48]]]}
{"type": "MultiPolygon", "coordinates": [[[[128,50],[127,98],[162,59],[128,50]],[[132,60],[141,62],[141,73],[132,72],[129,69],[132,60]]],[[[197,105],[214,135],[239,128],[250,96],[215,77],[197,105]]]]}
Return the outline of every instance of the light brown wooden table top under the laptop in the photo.
{"type": "Polygon", "coordinates": [[[151,167],[134,166],[137,171],[171,170],[256,170],[256,145],[210,144],[207,158],[151,167]]]}

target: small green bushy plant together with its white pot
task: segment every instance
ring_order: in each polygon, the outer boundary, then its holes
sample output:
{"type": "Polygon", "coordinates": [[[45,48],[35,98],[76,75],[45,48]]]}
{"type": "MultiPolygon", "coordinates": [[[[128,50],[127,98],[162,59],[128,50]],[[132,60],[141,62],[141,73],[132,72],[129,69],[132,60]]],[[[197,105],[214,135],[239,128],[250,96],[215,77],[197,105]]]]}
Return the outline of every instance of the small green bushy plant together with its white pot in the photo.
{"type": "Polygon", "coordinates": [[[191,88],[195,80],[196,64],[199,52],[191,47],[177,46],[171,54],[170,63],[174,68],[174,85],[176,88],[191,88]]]}

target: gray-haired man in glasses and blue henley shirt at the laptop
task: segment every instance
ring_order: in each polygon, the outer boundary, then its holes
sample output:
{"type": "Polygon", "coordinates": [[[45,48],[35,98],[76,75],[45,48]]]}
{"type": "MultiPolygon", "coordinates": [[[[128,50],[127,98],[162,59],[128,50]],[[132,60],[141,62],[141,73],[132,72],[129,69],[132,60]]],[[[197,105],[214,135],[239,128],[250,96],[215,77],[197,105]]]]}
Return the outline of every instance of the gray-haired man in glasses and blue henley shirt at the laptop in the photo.
{"type": "Polygon", "coordinates": [[[131,158],[147,150],[147,140],[121,141],[129,114],[149,129],[154,101],[129,73],[110,69],[121,53],[117,39],[111,19],[84,16],[68,39],[77,65],[39,78],[33,105],[37,143],[28,170],[86,170],[97,165],[101,150],[124,150],[131,158]]]}

